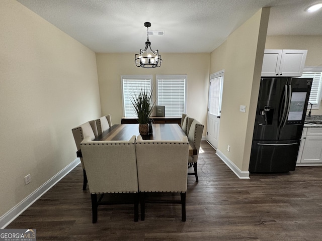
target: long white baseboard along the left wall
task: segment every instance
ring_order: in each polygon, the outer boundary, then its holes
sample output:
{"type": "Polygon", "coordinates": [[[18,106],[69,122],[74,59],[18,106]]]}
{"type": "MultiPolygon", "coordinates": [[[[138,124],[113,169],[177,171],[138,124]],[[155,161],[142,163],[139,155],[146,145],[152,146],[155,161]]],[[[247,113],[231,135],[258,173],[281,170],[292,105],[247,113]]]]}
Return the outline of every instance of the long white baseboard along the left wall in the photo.
{"type": "Polygon", "coordinates": [[[35,201],[37,201],[43,194],[45,194],[50,188],[52,188],[57,182],[59,182],[64,176],[66,176],[71,170],[73,170],[81,160],[76,158],[68,166],[58,172],[55,176],[41,185],[33,193],[27,196],[24,200],[14,206],[6,214],[0,217],[0,228],[5,228],[13,220],[15,220],[23,211],[30,207],[35,201]]]}

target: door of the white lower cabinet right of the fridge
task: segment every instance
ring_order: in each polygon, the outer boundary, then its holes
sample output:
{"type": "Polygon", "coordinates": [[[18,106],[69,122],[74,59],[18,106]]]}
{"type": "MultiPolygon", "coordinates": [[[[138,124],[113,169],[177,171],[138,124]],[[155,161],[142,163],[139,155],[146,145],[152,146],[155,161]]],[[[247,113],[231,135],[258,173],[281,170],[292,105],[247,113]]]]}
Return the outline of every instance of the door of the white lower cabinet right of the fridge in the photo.
{"type": "Polygon", "coordinates": [[[322,136],[306,136],[300,163],[322,163],[321,147],[322,136]]]}

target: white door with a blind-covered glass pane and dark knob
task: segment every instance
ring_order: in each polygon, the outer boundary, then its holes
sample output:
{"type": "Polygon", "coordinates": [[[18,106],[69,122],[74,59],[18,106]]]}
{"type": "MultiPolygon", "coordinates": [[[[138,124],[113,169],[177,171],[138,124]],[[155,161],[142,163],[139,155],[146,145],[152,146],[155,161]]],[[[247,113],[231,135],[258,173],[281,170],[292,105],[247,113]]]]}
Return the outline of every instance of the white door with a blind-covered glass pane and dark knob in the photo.
{"type": "Polygon", "coordinates": [[[210,75],[209,83],[207,141],[215,148],[218,147],[223,74],[220,71],[210,75]]]}

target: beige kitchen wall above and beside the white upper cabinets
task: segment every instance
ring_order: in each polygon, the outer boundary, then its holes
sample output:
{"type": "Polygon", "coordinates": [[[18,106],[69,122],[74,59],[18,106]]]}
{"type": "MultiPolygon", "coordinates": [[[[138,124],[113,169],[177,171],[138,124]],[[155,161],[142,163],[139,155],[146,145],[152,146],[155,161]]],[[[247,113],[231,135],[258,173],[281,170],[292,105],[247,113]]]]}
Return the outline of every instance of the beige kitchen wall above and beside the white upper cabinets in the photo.
{"type": "MultiPolygon", "coordinates": [[[[322,67],[322,36],[267,36],[265,49],[307,49],[305,66],[322,67]]],[[[322,115],[322,101],[312,115],[322,115]]]]}

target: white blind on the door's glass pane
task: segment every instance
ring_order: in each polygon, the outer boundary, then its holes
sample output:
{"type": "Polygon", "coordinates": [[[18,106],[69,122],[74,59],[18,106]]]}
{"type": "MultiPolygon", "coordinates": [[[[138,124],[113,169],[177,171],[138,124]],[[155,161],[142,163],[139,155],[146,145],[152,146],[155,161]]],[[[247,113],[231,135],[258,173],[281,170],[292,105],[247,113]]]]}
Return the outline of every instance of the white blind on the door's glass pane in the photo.
{"type": "Polygon", "coordinates": [[[221,76],[210,79],[209,86],[209,113],[220,115],[221,76]]]}

